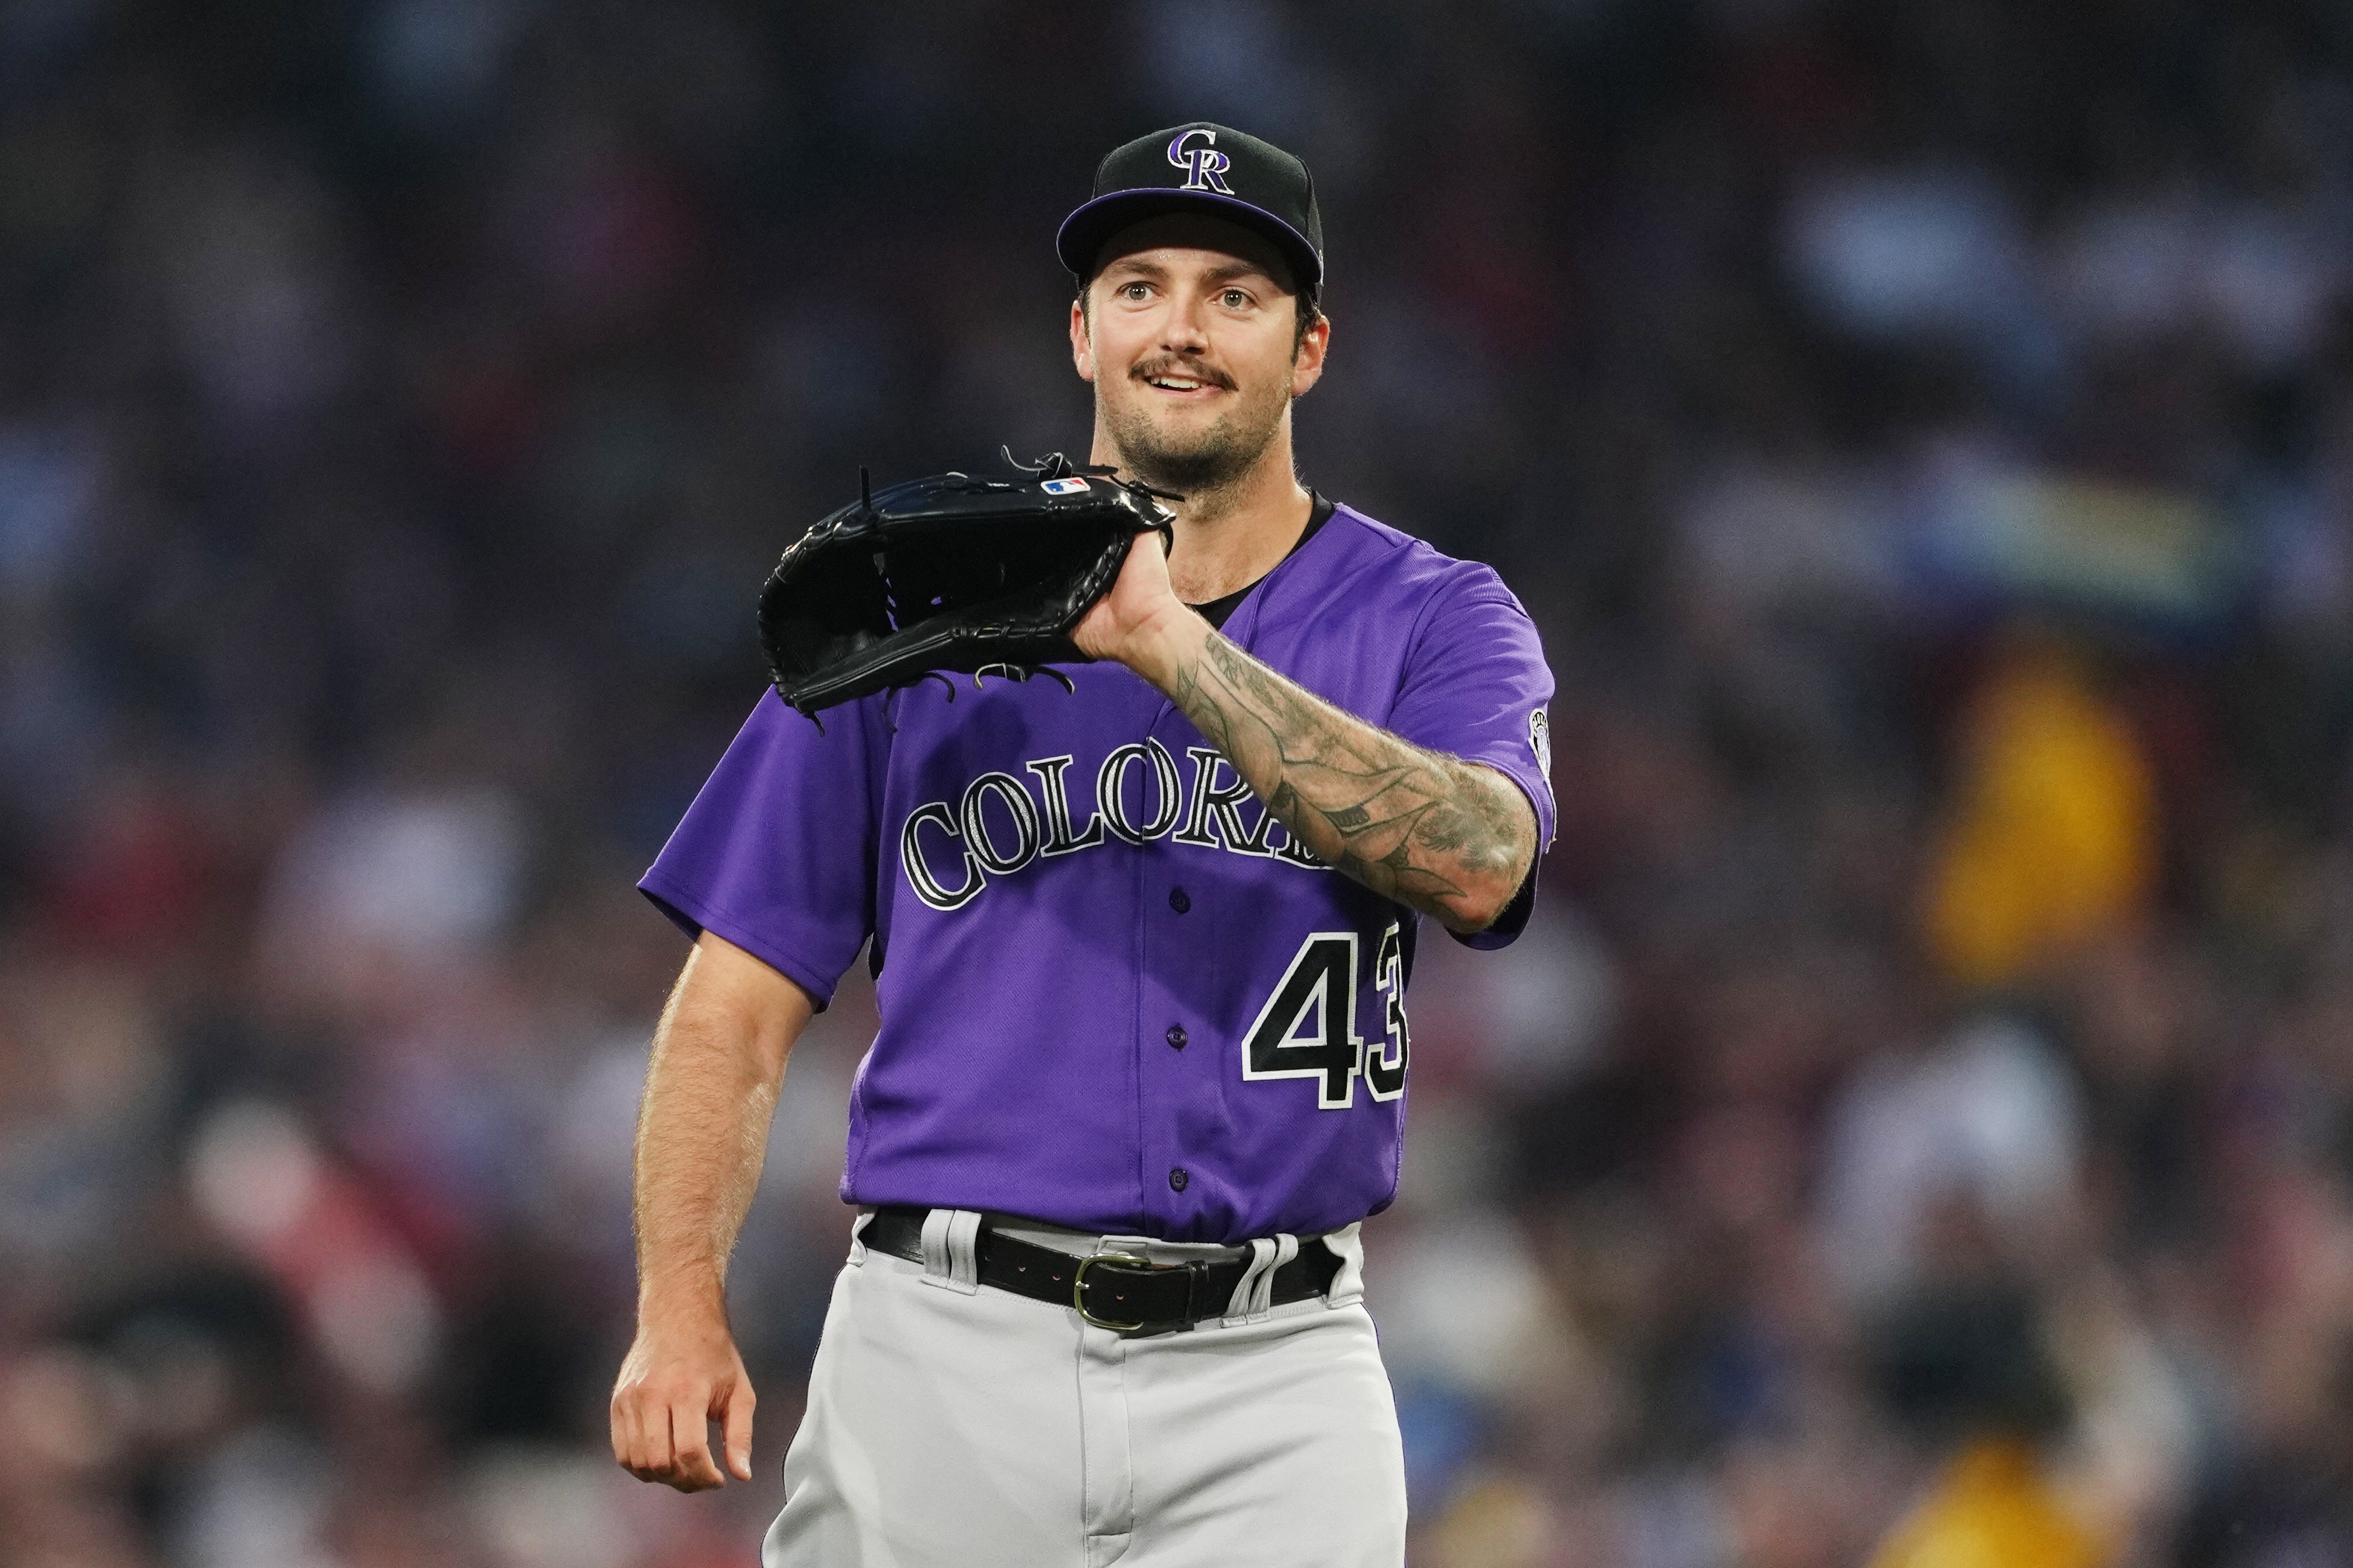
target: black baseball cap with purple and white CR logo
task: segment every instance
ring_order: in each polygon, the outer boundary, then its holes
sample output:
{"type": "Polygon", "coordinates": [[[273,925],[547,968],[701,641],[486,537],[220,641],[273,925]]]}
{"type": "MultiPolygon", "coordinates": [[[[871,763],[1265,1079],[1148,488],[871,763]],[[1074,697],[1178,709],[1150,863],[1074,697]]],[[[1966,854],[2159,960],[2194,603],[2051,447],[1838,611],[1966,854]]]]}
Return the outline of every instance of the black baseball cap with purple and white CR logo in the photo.
{"type": "Polygon", "coordinates": [[[1228,125],[1193,120],[1113,148],[1094,167],[1094,200],[1061,221],[1054,249],[1087,282],[1104,242],[1162,212],[1202,212],[1257,230],[1292,263],[1299,292],[1322,289],[1315,176],[1294,155],[1228,125]]]}

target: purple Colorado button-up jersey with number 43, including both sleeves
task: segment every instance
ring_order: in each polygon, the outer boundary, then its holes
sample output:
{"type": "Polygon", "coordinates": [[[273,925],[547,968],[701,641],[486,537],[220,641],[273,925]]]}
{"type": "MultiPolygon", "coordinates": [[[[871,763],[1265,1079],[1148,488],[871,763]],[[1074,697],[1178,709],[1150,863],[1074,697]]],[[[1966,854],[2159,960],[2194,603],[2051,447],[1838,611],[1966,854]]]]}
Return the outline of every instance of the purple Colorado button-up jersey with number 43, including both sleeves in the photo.
{"type": "MultiPolygon", "coordinates": [[[[1501,769],[1551,842],[1553,677],[1492,569],[1339,508],[1224,635],[1501,769]]],[[[1139,675],[1064,670],[1078,696],[925,682],[824,731],[765,696],[640,886],[819,1006],[873,938],[845,1201],[1228,1244],[1386,1208],[1417,914],[1294,846],[1139,675]]]]}

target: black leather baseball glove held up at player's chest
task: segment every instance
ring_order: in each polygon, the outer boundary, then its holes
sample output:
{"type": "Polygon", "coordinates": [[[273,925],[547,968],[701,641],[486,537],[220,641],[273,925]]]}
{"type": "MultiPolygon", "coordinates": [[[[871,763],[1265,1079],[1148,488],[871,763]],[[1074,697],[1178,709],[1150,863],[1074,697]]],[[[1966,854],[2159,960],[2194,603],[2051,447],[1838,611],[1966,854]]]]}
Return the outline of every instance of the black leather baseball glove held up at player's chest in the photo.
{"type": "Polygon", "coordinates": [[[880,494],[864,494],[859,475],[861,496],[802,534],[760,592],[776,696],[814,715],[944,670],[979,684],[984,672],[1028,679],[1087,663],[1071,628],[1111,592],[1136,534],[1174,538],[1160,501],[1179,496],[1059,451],[1014,470],[880,494]]]}

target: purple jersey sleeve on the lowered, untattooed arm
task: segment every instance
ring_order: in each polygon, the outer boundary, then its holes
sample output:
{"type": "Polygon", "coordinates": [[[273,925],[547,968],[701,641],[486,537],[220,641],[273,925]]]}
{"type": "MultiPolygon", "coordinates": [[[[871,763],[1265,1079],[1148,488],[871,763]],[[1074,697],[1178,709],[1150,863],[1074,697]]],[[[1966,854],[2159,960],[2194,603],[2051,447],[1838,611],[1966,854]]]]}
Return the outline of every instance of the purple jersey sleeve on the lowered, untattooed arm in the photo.
{"type": "Polygon", "coordinates": [[[638,889],[687,936],[715,931],[824,1009],[875,924],[887,748],[880,698],[819,729],[769,691],[638,889]]]}

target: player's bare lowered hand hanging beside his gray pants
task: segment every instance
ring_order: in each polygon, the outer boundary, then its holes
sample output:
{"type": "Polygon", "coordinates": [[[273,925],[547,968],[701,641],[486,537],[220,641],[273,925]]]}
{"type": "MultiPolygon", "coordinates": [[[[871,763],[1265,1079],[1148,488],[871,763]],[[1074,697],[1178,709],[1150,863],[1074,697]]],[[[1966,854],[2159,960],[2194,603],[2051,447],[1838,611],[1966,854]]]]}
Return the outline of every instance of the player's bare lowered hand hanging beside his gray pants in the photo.
{"type": "Polygon", "coordinates": [[[612,1458],[682,1493],[727,1486],[727,1474],[751,1481],[751,1378],[722,1316],[640,1319],[612,1389],[612,1458]],[[725,1432],[727,1474],[711,1455],[711,1422],[725,1432]]]}

